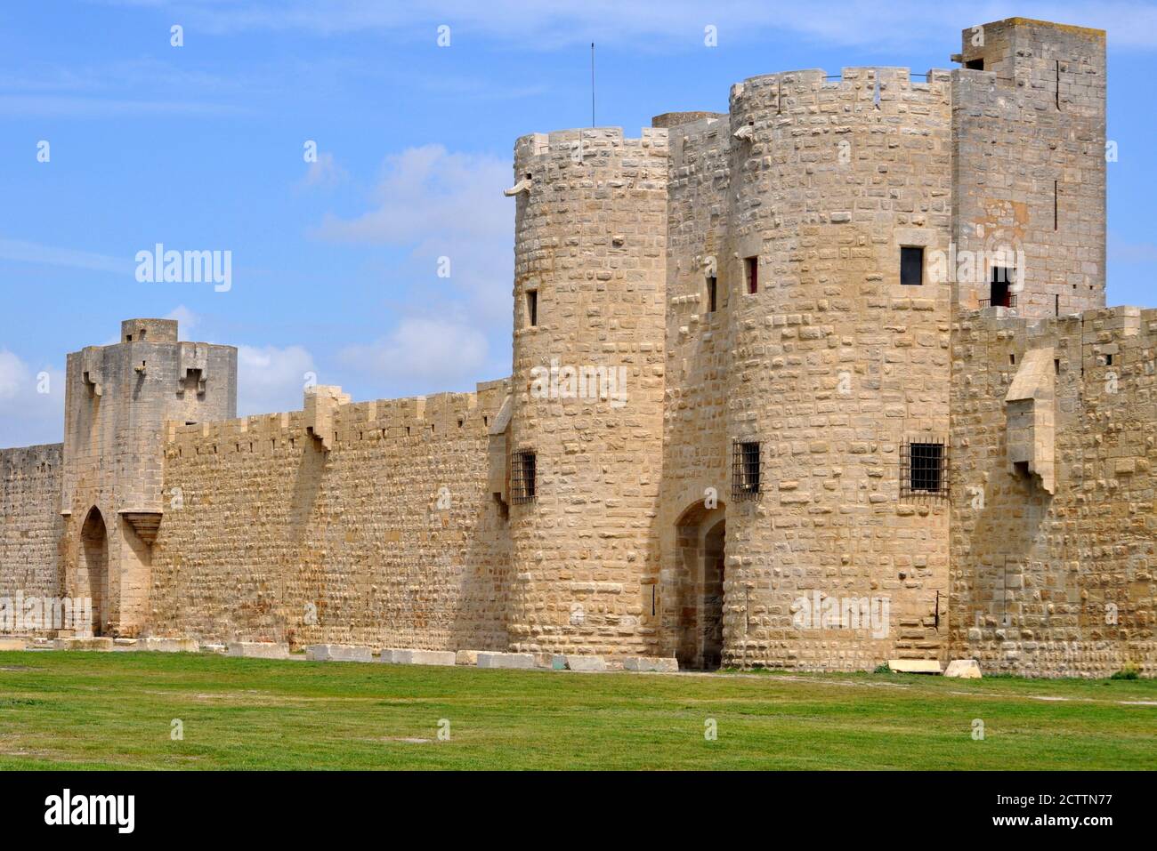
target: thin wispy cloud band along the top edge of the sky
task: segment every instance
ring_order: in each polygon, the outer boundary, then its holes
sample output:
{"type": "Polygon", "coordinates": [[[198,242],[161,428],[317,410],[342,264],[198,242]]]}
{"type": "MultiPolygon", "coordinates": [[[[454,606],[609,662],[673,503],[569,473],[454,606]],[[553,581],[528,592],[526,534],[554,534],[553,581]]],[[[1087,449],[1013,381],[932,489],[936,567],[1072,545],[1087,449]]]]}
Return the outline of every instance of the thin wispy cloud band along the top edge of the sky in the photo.
{"type": "Polygon", "coordinates": [[[663,50],[702,44],[703,28],[718,28],[720,43],[769,36],[804,36],[862,47],[918,45],[929,37],[1015,15],[1112,31],[1119,46],[1157,47],[1157,9],[1142,0],[967,2],[949,0],[854,0],[842,3],[772,3],[766,0],[430,0],[421,6],[362,0],[171,0],[156,3],[214,32],[305,30],[333,35],[389,30],[434,43],[448,24],[459,38],[487,38],[526,50],[598,40],[663,50]]]}

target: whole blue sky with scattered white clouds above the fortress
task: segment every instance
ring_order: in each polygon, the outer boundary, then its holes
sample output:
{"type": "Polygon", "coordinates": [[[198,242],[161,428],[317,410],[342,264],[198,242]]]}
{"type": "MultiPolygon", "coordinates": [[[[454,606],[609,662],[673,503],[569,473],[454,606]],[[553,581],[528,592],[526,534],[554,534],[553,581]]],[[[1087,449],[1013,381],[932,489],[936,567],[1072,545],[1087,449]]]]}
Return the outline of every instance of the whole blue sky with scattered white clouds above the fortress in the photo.
{"type": "Polygon", "coordinates": [[[355,399],[508,375],[501,191],[516,136],[589,124],[591,40],[597,123],[634,135],[757,74],[950,68],[961,29],[1011,15],[1108,30],[1108,299],[1152,305],[1151,3],[8,0],[0,446],[59,441],[65,354],[138,316],[238,346],[242,414],[300,408],[305,372],[355,399]],[[155,243],[231,251],[231,289],[138,282],[155,243]]]}

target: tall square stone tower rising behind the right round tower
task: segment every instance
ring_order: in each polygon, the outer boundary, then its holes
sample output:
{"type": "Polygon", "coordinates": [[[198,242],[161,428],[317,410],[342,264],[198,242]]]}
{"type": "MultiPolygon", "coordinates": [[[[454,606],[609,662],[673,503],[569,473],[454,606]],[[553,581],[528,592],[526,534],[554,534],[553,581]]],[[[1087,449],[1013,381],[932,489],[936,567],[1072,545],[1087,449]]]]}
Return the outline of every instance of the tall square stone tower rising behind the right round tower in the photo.
{"type": "MultiPolygon", "coordinates": [[[[1105,306],[1105,32],[1014,17],[963,38],[983,71],[952,73],[957,249],[1023,252],[1020,316],[1105,306]]],[[[966,310],[989,298],[974,268],[966,310]]]]}

